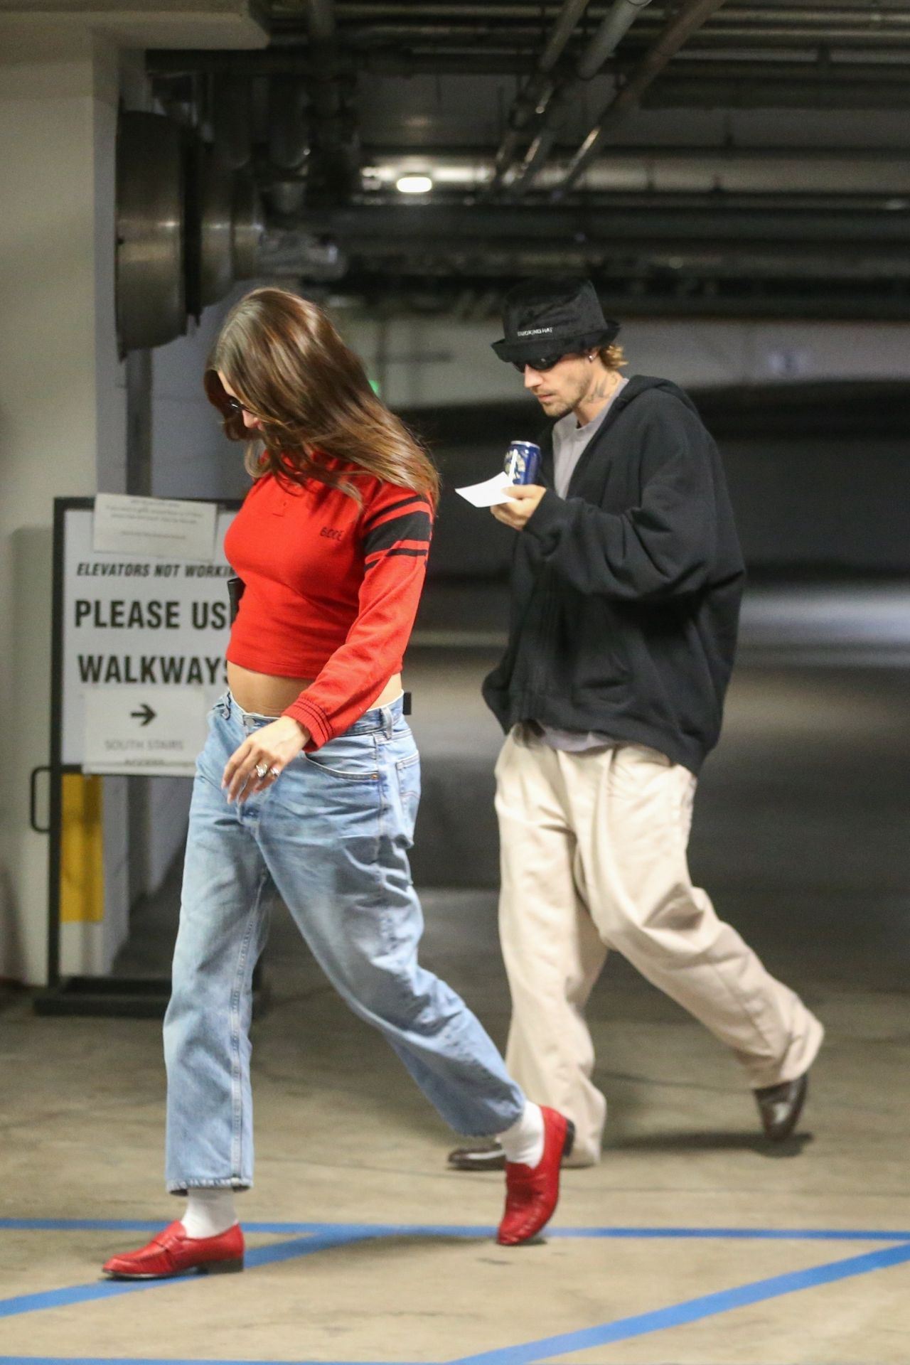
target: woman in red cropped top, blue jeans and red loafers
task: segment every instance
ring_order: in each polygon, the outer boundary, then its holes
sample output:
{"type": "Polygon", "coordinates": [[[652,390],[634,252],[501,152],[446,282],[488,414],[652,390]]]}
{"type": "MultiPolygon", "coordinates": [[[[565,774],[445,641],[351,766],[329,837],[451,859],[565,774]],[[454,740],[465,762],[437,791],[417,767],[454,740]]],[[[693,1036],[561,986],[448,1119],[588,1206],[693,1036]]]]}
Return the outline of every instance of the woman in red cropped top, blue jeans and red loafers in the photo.
{"type": "Polygon", "coordinates": [[[252,1183],[250,1002],[267,904],[284,901],[348,1005],[458,1132],[508,1158],[499,1242],[533,1237],[572,1126],[529,1103],[464,1002],[417,964],[407,850],[420,793],[401,659],[438,480],[312,303],[255,289],[205,378],[254,483],[225,539],[244,583],[229,691],[190,809],[165,1018],[166,1182],[187,1209],[116,1279],[240,1269],[233,1194],[252,1183]]]}

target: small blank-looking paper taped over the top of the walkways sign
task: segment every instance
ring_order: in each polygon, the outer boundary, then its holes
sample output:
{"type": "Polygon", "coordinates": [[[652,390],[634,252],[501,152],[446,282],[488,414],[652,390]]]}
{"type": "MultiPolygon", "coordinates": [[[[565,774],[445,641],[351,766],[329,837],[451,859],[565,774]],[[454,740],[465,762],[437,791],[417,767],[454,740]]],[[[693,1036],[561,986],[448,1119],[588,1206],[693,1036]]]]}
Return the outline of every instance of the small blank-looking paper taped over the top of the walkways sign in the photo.
{"type": "Polygon", "coordinates": [[[91,549],[96,554],[153,556],[156,560],[202,560],[211,564],[217,511],[214,502],[98,493],[91,549]]]}

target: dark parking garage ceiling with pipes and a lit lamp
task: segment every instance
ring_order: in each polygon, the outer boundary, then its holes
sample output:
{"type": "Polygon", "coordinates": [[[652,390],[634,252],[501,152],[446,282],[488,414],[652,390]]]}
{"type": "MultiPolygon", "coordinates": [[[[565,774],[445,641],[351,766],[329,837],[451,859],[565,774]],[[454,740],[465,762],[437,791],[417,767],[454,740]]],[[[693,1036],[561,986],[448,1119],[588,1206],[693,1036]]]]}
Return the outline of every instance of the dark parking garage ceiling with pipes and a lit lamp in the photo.
{"type": "Polygon", "coordinates": [[[591,273],[630,314],[910,317],[910,7],[266,0],[261,51],[150,52],[252,175],[263,266],[483,317],[591,273]]]}

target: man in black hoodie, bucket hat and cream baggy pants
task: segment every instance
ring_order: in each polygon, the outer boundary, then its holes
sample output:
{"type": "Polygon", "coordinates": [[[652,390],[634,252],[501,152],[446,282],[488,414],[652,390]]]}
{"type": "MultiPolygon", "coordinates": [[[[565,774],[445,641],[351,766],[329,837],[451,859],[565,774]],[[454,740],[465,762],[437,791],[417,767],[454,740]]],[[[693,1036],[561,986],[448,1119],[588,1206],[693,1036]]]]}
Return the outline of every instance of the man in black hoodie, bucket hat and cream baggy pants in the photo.
{"type": "MultiPolygon", "coordinates": [[[[497,763],[506,1061],[599,1160],[606,1100],[584,1009],[610,947],[742,1065],[768,1138],[793,1133],[823,1039],[802,1001],[693,887],[692,800],[720,730],[744,566],[718,450],[674,384],[623,378],[588,280],[506,299],[497,355],[551,419],[538,485],[493,515],[518,535],[506,652],[484,698],[497,763]]],[[[463,1170],[495,1147],[453,1152],[463,1170]]]]}

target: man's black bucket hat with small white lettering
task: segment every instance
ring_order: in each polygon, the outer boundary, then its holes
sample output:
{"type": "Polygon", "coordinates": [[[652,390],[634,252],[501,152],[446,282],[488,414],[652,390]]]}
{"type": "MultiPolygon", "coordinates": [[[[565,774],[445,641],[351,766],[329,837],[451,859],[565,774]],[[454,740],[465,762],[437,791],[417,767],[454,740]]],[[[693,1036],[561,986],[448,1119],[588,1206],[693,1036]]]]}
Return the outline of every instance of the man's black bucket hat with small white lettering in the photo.
{"type": "Polygon", "coordinates": [[[572,276],[517,284],[506,293],[502,326],[505,336],[493,349],[518,363],[610,345],[619,330],[604,318],[591,280],[572,276]]]}

